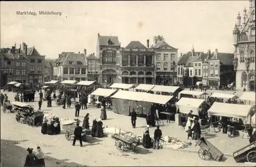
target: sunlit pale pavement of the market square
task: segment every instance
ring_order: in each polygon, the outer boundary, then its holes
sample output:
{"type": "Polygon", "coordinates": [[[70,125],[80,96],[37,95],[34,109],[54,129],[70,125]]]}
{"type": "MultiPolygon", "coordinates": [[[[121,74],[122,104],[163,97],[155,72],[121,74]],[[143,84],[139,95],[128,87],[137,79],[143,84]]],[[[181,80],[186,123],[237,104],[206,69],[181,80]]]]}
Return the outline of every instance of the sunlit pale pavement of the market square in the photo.
{"type": "MultiPolygon", "coordinates": [[[[10,93],[8,94],[9,99],[12,100],[12,95],[10,93]]],[[[32,104],[37,108],[37,102],[32,104]]],[[[47,108],[46,102],[43,102],[42,110],[54,113],[60,117],[75,118],[74,107],[71,109],[62,109],[60,106],[53,105],[52,108],[47,108]]],[[[99,109],[81,110],[80,119],[86,113],[90,113],[90,123],[94,116],[100,116],[99,109]]],[[[108,120],[103,121],[104,125],[108,127],[116,126],[127,131],[132,131],[135,134],[142,134],[146,125],[144,118],[138,118],[137,128],[133,129],[131,127],[130,117],[110,111],[107,111],[107,115],[108,120]]],[[[185,132],[180,127],[175,127],[174,124],[161,127],[161,129],[164,135],[174,135],[178,138],[186,136],[185,132]]],[[[42,135],[40,133],[40,127],[29,127],[28,125],[17,123],[14,113],[1,112],[1,140],[12,140],[12,145],[14,145],[14,141],[19,142],[17,146],[21,148],[32,147],[35,149],[37,146],[40,146],[47,153],[49,159],[51,159],[51,161],[47,161],[47,166],[53,166],[55,163],[60,166],[78,166],[77,164],[89,166],[244,166],[244,163],[234,162],[232,157],[227,157],[223,162],[204,161],[199,158],[197,153],[171,149],[153,150],[139,147],[137,154],[120,153],[115,148],[115,141],[110,136],[104,138],[92,138],[88,136],[89,141],[84,143],[84,147],[80,148],[78,143],[73,147],[71,141],[66,140],[64,133],[62,131],[59,135],[42,135]],[[73,162],[73,164],[70,162],[73,162]]],[[[154,128],[150,130],[150,133],[154,133],[154,128]]],[[[215,138],[218,141],[226,141],[223,138],[215,138]]],[[[183,140],[182,138],[180,139],[183,140]]],[[[228,143],[225,144],[228,145],[228,143]]],[[[242,147],[243,145],[241,144],[240,146],[242,147]]],[[[218,146],[216,147],[220,150],[222,149],[218,146]]],[[[3,147],[1,144],[1,152],[5,152],[5,150],[10,152],[10,147],[3,147]]],[[[1,154],[2,164],[12,166],[11,164],[15,164],[13,162],[16,159],[18,161],[16,164],[22,163],[20,165],[23,165],[26,153],[16,151],[12,152],[11,156],[16,158],[8,161],[8,159],[2,158],[1,154]]]]}

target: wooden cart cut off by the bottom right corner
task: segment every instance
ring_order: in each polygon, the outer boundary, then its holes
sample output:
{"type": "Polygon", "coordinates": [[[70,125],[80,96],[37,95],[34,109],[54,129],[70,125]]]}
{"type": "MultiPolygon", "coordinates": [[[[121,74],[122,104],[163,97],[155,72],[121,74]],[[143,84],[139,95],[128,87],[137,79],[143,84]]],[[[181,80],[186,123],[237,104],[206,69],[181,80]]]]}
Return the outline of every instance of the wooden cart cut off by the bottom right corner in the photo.
{"type": "Polygon", "coordinates": [[[256,162],[256,141],[233,152],[233,157],[236,162],[256,162]]]}

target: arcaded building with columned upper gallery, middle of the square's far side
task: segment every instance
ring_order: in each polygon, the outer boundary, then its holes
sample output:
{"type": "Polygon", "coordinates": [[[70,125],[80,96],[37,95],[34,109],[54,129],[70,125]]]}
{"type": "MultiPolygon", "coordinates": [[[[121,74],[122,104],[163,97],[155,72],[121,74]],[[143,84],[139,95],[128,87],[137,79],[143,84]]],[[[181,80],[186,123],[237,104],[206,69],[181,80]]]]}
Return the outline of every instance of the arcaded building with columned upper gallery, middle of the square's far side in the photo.
{"type": "Polygon", "coordinates": [[[140,41],[131,41],[126,47],[120,48],[121,81],[126,84],[154,84],[154,50],[140,41]]]}

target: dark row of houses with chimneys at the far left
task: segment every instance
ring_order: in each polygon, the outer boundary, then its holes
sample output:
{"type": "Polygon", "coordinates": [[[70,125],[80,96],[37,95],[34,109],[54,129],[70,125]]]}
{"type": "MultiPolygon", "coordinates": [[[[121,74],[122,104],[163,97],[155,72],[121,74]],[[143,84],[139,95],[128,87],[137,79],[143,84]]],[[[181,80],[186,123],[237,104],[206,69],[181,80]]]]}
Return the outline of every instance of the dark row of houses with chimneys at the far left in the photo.
{"type": "Polygon", "coordinates": [[[1,49],[0,53],[1,85],[17,81],[37,85],[52,78],[52,64],[35,47],[23,42],[19,47],[1,49]]]}

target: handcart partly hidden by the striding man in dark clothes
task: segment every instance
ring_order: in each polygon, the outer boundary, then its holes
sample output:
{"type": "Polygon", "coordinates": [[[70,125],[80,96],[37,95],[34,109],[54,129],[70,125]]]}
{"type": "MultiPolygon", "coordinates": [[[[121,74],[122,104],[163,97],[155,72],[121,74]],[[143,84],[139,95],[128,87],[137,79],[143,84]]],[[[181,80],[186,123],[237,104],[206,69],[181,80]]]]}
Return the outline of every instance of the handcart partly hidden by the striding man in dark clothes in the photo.
{"type": "MultiPolygon", "coordinates": [[[[62,129],[65,130],[65,137],[68,141],[72,141],[72,139],[74,138],[74,129],[76,127],[76,123],[71,123],[71,124],[66,124],[66,125],[62,125],[62,129]]],[[[82,141],[86,142],[86,131],[83,130],[84,133],[82,133],[82,141]]]]}

